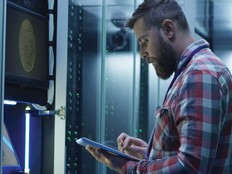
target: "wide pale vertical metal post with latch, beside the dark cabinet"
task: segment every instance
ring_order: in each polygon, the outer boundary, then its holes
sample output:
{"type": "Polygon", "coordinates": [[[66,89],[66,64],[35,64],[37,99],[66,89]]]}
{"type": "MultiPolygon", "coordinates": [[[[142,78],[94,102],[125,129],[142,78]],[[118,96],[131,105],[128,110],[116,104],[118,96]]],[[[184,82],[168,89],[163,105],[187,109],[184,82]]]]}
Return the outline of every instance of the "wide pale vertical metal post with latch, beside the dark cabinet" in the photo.
{"type": "MultiPolygon", "coordinates": [[[[58,0],[55,109],[66,106],[68,4],[58,0]],[[61,9],[61,10],[60,10],[61,9]]],[[[54,174],[65,173],[65,120],[55,117],[54,174]]]]}

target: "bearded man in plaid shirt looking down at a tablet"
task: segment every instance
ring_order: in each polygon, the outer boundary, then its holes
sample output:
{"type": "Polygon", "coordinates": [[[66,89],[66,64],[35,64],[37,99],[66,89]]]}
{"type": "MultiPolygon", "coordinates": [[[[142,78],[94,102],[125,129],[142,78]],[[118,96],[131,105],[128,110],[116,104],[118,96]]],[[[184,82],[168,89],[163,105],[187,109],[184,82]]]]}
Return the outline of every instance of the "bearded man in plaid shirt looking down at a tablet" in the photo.
{"type": "Polygon", "coordinates": [[[232,173],[232,77],[205,40],[192,37],[175,0],[145,0],[128,21],[141,57],[162,79],[174,78],[149,144],[122,133],[130,161],[87,146],[118,173],[232,173]]]}

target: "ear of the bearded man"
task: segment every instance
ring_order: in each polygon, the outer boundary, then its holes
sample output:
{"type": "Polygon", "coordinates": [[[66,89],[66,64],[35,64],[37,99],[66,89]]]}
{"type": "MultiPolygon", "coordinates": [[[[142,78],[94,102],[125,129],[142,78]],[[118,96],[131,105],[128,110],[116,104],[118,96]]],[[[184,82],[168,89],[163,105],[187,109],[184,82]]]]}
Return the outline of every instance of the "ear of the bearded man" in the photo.
{"type": "Polygon", "coordinates": [[[169,39],[174,39],[175,38],[175,27],[174,27],[174,23],[172,20],[170,19],[165,19],[162,23],[162,29],[165,33],[165,35],[169,38],[169,39]]]}

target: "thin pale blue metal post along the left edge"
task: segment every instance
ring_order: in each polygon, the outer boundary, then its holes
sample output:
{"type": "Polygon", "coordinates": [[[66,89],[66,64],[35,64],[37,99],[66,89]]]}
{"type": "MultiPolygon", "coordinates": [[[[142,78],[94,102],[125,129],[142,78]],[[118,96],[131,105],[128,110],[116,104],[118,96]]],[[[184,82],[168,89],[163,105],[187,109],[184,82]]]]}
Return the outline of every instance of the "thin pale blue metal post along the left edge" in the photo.
{"type": "MultiPolygon", "coordinates": [[[[5,24],[6,24],[6,1],[0,1],[0,150],[2,154],[2,125],[3,125],[3,114],[4,114],[4,84],[5,84],[5,24]]],[[[0,155],[0,166],[2,166],[2,155],[0,155]]],[[[0,168],[2,173],[2,167],[0,168]]]]}

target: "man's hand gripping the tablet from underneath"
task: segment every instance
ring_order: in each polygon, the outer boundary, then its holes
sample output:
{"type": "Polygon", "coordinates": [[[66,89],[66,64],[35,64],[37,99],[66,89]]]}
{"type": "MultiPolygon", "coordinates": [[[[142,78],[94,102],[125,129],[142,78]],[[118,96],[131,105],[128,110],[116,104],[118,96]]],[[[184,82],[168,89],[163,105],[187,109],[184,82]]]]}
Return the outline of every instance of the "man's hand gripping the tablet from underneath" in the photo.
{"type": "Polygon", "coordinates": [[[87,145],[86,150],[98,161],[104,163],[109,168],[118,173],[122,173],[124,164],[128,161],[126,158],[119,157],[115,154],[109,153],[106,150],[95,148],[87,145]]]}

